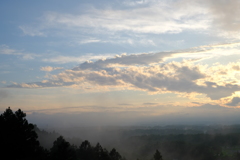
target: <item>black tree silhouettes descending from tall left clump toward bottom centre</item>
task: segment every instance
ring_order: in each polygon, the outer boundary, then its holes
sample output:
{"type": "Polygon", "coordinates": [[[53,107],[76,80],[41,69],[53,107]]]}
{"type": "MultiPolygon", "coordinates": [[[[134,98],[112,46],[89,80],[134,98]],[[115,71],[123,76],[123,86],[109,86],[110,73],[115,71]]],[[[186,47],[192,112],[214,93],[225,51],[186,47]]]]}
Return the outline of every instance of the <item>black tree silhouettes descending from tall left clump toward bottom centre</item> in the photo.
{"type": "MultiPolygon", "coordinates": [[[[70,145],[59,136],[50,152],[39,145],[37,126],[28,123],[26,113],[18,109],[15,113],[8,107],[0,115],[0,152],[1,157],[9,160],[123,160],[112,149],[108,152],[97,143],[95,147],[85,140],[79,148],[70,145]]],[[[41,133],[41,132],[40,132],[41,133]]],[[[45,135],[47,132],[43,132],[45,135]]]]}

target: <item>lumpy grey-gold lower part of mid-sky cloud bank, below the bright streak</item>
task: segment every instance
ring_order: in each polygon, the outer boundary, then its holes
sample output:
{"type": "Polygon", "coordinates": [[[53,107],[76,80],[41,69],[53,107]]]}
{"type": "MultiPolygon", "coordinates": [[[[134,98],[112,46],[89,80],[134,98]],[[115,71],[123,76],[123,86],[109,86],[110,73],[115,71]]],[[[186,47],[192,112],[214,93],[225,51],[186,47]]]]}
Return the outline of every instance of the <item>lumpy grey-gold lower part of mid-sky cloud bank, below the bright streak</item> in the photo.
{"type": "MultiPolygon", "coordinates": [[[[163,66],[115,68],[113,70],[66,70],[52,75],[48,81],[13,84],[15,88],[42,88],[77,85],[81,88],[116,88],[143,90],[153,93],[201,93],[213,100],[231,96],[240,86],[231,82],[215,82],[201,65],[172,62],[163,66]],[[212,79],[209,81],[208,79],[212,79]],[[200,82],[198,82],[200,81],[200,82]]],[[[215,75],[214,75],[215,77],[215,75]]],[[[217,76],[216,76],[217,77],[217,76]]],[[[234,77],[233,77],[234,78],[234,77]]]]}

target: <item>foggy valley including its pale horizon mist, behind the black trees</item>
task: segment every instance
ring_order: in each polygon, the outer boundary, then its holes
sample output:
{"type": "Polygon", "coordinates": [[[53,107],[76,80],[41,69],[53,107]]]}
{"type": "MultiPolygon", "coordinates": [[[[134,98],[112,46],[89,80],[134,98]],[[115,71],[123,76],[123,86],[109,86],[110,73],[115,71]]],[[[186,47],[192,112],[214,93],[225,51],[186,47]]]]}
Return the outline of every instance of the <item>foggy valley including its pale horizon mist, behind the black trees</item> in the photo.
{"type": "Polygon", "coordinates": [[[89,140],[92,145],[114,147],[126,159],[151,159],[158,149],[167,160],[227,160],[236,158],[240,151],[239,114],[238,108],[207,104],[160,116],[136,111],[33,112],[29,120],[39,124],[39,140],[46,148],[57,135],[63,135],[76,146],[89,140]],[[41,130],[54,131],[55,137],[41,130]]]}

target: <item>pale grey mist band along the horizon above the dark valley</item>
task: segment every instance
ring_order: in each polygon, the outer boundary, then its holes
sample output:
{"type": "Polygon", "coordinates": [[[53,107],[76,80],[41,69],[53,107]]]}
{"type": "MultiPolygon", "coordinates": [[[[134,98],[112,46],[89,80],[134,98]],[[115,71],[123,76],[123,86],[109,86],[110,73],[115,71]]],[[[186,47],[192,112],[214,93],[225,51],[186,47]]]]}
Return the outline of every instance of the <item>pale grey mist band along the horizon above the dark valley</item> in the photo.
{"type": "MultiPolygon", "coordinates": [[[[154,113],[154,110],[153,110],[154,113]]],[[[155,126],[155,125],[209,125],[238,124],[239,108],[226,108],[206,104],[199,107],[187,107],[178,112],[152,115],[143,111],[99,111],[75,113],[38,113],[28,114],[29,121],[46,127],[84,127],[84,126],[155,126]]]]}

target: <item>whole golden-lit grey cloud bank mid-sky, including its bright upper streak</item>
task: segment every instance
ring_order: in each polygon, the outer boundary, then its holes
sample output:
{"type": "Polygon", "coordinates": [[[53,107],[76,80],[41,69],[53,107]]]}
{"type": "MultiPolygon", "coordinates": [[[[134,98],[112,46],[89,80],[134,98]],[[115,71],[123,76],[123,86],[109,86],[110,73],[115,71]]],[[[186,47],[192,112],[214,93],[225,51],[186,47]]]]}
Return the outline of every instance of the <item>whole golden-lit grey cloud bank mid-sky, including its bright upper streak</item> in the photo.
{"type": "MultiPolygon", "coordinates": [[[[238,74],[236,66],[240,66],[240,63],[206,66],[197,62],[206,56],[236,54],[235,50],[238,47],[239,43],[229,43],[175,52],[123,54],[95,62],[83,62],[73,69],[50,75],[48,80],[42,82],[12,84],[8,87],[73,87],[88,91],[127,89],[151,94],[166,92],[182,95],[204,94],[212,100],[218,100],[240,90],[236,76],[238,74]],[[184,60],[173,61],[178,57],[184,60]]],[[[53,70],[51,67],[42,69],[53,70]]]]}

